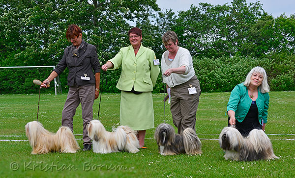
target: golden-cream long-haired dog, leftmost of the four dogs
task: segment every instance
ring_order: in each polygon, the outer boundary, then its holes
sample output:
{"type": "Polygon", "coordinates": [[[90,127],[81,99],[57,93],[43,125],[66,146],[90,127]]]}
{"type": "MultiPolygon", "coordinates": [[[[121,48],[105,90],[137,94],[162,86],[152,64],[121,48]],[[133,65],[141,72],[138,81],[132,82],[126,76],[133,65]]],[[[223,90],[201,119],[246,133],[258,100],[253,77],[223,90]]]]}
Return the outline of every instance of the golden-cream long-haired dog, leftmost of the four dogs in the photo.
{"type": "Polygon", "coordinates": [[[26,126],[26,135],[32,154],[48,152],[76,153],[80,149],[69,127],[60,127],[56,134],[46,130],[40,122],[32,121],[26,126]]]}

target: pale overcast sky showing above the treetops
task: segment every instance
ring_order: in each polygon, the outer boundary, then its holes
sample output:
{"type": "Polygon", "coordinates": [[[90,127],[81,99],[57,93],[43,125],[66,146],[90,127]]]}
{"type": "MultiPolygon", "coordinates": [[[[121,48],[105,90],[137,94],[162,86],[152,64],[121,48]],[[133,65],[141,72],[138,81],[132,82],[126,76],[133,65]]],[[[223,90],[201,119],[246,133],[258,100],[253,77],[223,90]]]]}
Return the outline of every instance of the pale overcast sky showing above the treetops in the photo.
{"type": "MultiPolygon", "coordinates": [[[[159,7],[163,9],[172,9],[174,12],[190,9],[191,4],[198,6],[199,2],[207,2],[213,5],[231,4],[233,0],[157,0],[159,7]]],[[[285,13],[288,17],[295,14],[295,0],[246,0],[250,2],[260,1],[262,8],[273,17],[278,17],[285,13]]]]}

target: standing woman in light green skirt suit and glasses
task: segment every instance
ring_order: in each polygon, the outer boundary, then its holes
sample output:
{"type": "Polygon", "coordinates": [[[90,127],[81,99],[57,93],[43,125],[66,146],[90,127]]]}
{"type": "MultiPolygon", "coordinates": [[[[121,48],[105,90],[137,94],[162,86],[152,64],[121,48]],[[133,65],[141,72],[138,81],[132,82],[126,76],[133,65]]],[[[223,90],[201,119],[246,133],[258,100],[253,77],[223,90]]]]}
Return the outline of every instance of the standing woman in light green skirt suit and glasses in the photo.
{"type": "Polygon", "coordinates": [[[104,71],[121,67],[117,88],[121,90],[120,124],[138,130],[140,147],[145,145],[146,130],[154,127],[151,91],[160,73],[154,51],[141,44],[142,32],[134,27],[128,31],[131,46],[101,68],[104,71]]]}

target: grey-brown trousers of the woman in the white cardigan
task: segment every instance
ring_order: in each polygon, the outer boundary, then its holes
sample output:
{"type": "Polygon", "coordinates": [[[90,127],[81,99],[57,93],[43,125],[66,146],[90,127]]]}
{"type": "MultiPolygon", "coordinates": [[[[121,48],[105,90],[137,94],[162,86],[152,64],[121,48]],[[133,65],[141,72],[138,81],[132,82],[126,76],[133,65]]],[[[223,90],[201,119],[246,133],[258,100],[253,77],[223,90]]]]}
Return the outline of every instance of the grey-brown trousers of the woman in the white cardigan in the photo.
{"type": "Polygon", "coordinates": [[[185,128],[191,127],[196,130],[196,112],[201,95],[200,82],[196,76],[180,85],[171,88],[171,114],[177,133],[181,133],[185,128]],[[189,85],[196,87],[197,93],[188,93],[189,85]]]}

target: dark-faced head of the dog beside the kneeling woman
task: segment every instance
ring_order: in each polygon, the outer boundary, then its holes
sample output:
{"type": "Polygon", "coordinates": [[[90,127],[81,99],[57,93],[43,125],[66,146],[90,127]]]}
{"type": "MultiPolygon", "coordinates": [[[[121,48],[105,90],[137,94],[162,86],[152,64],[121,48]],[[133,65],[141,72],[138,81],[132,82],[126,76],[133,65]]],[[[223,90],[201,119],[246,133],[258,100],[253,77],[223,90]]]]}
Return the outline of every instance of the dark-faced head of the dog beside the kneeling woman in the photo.
{"type": "Polygon", "coordinates": [[[223,150],[238,151],[243,139],[243,136],[236,128],[224,127],[219,135],[219,145],[223,150]]]}

